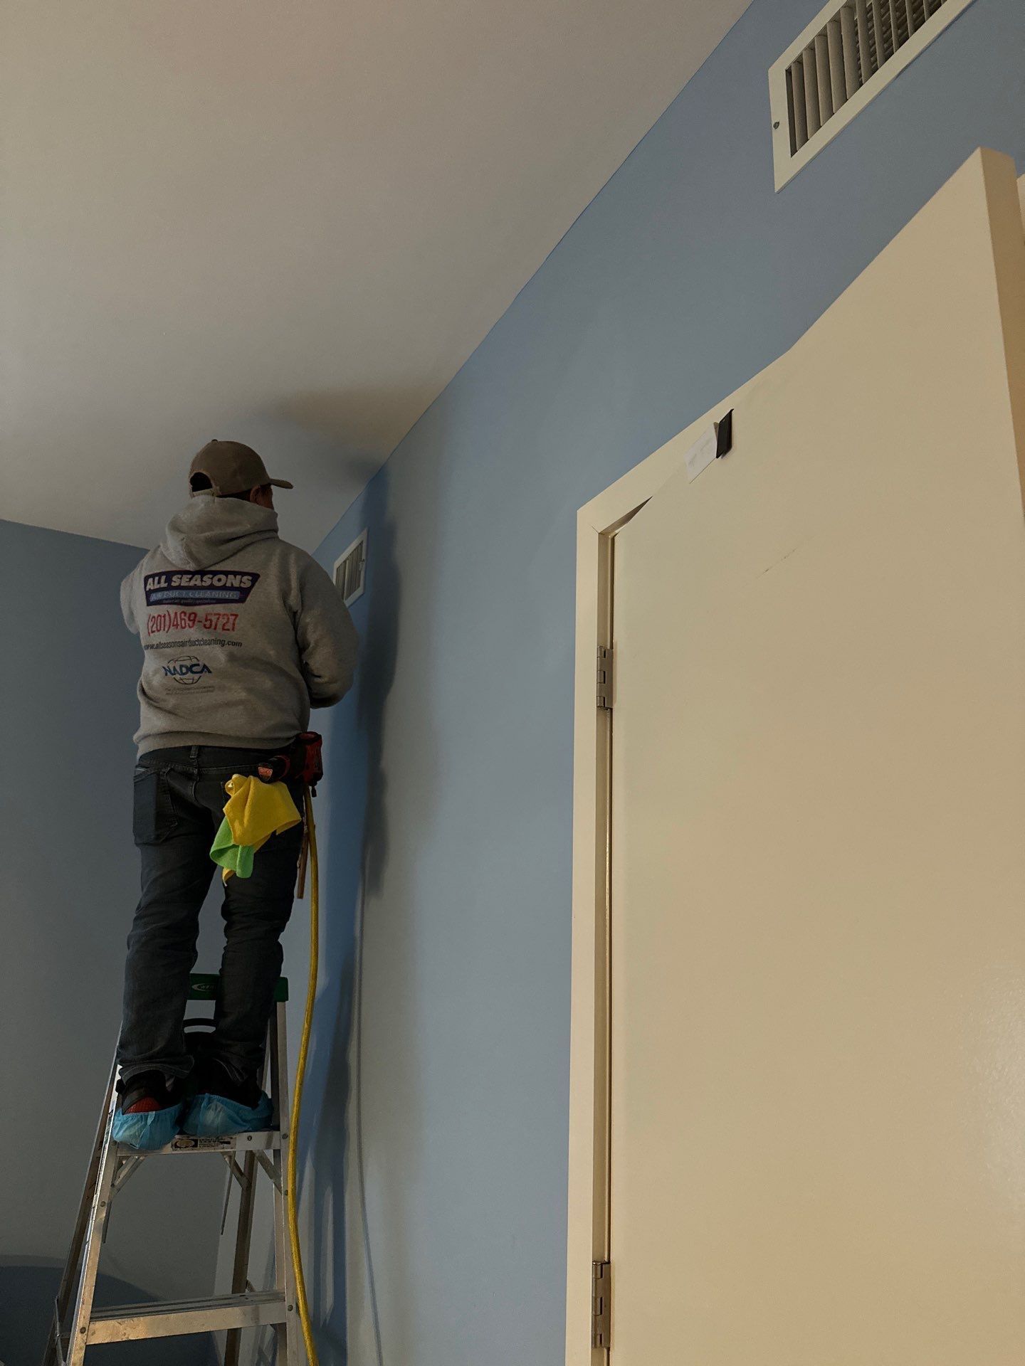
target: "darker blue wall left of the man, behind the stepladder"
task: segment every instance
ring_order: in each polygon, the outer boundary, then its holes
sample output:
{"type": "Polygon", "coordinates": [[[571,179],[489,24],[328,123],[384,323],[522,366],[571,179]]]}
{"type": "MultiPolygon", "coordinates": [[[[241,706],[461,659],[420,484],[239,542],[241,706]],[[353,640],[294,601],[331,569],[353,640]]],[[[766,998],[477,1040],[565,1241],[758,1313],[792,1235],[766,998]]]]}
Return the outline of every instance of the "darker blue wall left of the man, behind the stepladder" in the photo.
{"type": "MultiPolygon", "coordinates": [[[[118,589],[134,546],[0,522],[0,1361],[37,1366],[120,1018],[138,897],[131,840],[139,643],[118,589]]],[[[216,960],[215,960],[216,967],[216,960]]],[[[119,1195],[100,1295],[209,1294],[216,1160],[142,1169],[119,1195]],[[190,1171],[186,1171],[190,1168],[190,1171]],[[127,1283],[127,1285],[126,1285],[127,1283]]],[[[112,1300],[111,1296],[115,1296],[112,1300]]],[[[96,1362],[206,1361],[202,1340],[96,1362]]],[[[92,1361],[92,1355],[90,1355],[92,1361]]]]}

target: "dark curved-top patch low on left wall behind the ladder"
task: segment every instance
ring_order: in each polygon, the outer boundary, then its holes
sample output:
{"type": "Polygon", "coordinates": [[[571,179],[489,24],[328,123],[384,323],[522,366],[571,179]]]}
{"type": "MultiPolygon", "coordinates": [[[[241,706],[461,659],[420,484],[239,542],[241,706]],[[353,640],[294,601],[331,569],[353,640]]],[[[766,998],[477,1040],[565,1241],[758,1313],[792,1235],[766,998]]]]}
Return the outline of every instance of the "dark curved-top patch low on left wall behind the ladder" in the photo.
{"type": "MultiPolygon", "coordinates": [[[[31,1258],[0,1262],[0,1362],[3,1366],[40,1366],[46,1346],[46,1332],[53,1321],[53,1299],[60,1287],[57,1262],[31,1258]]],[[[128,1281],[100,1274],[96,1303],[152,1303],[128,1281]]],[[[87,1366],[216,1366],[213,1341],[205,1333],[190,1337],[167,1337],[150,1343],[118,1343],[90,1347],[87,1366]]]]}

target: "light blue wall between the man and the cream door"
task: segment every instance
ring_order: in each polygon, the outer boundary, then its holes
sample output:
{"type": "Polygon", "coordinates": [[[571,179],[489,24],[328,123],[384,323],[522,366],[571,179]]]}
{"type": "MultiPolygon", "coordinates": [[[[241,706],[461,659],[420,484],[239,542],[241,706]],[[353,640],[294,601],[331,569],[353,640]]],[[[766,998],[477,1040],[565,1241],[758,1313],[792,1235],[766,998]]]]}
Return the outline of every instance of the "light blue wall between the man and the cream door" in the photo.
{"type": "Polygon", "coordinates": [[[369,526],[306,1176],[339,1359],[346,1288],[359,1366],[374,1310],[387,1366],[562,1359],[575,510],[783,352],[974,148],[1025,164],[1025,5],[976,0],[775,194],[767,71],[819,8],[756,0],[320,549],[369,526]]]}

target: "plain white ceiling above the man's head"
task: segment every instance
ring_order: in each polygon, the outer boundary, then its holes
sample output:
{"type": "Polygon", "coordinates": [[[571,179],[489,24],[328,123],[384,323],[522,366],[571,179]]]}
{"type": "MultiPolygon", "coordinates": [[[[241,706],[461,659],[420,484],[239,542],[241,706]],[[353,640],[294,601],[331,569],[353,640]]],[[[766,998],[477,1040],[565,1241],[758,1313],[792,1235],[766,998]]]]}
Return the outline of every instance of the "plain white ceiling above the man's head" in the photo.
{"type": "Polygon", "coordinates": [[[746,5],[5,0],[0,516],[234,437],[316,545],[746,5]]]}

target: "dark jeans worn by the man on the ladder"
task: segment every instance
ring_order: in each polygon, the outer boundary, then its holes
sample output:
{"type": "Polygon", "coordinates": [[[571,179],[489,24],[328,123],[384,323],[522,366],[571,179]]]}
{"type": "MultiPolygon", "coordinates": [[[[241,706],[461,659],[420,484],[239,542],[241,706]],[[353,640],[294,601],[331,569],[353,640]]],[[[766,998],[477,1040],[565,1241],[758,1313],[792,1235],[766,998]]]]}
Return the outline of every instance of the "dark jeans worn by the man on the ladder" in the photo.
{"type": "MultiPolygon", "coordinates": [[[[266,751],[271,753],[271,751],[266,751]]],[[[256,773],[262,750],[183,746],[152,750],[135,769],[134,833],[142,856],[142,897],[128,934],[122,1076],[150,1068],[186,1076],[193,1059],[183,1018],[195,964],[200,908],[220,867],[210,844],[223,820],[232,773],[256,773]]],[[[302,810],[302,790],[290,784],[302,810]]],[[[257,850],[253,876],[224,887],[224,956],[213,1035],[204,1053],[236,1081],[260,1071],[273,989],[282,971],[279,937],[288,923],[302,825],[257,850]]]]}

